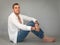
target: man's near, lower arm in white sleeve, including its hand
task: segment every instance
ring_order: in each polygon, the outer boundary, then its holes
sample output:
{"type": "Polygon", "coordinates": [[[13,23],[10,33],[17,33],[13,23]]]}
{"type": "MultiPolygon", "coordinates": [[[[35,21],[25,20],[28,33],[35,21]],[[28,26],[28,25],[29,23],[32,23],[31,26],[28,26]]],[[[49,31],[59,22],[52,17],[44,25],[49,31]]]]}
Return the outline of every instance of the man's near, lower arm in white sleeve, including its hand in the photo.
{"type": "Polygon", "coordinates": [[[35,30],[35,27],[20,24],[20,22],[18,22],[18,20],[15,20],[14,18],[9,18],[8,21],[9,22],[11,21],[11,23],[19,29],[23,29],[23,30],[26,30],[26,31],[35,30]]]}

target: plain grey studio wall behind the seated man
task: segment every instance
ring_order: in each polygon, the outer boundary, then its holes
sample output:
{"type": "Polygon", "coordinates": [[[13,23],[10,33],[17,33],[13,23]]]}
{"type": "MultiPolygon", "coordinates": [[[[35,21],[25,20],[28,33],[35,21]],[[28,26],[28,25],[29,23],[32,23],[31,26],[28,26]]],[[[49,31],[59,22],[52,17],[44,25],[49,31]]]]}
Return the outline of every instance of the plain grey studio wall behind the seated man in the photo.
{"type": "Polygon", "coordinates": [[[20,4],[22,14],[38,19],[45,34],[60,36],[59,0],[0,0],[0,35],[7,34],[7,20],[14,2],[20,4]]]}

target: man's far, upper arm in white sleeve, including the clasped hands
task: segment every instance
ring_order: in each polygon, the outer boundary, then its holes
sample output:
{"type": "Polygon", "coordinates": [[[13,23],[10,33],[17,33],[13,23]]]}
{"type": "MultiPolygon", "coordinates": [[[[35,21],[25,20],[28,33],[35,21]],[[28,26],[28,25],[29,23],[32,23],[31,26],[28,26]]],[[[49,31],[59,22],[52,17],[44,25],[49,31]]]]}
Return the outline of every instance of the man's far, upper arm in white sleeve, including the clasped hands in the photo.
{"type": "Polygon", "coordinates": [[[35,27],[32,27],[31,29],[35,29],[36,31],[40,31],[40,27],[39,27],[39,23],[37,21],[37,19],[33,18],[33,17],[29,17],[29,16],[25,16],[22,15],[24,20],[28,20],[28,21],[33,21],[35,23],[35,27]]]}

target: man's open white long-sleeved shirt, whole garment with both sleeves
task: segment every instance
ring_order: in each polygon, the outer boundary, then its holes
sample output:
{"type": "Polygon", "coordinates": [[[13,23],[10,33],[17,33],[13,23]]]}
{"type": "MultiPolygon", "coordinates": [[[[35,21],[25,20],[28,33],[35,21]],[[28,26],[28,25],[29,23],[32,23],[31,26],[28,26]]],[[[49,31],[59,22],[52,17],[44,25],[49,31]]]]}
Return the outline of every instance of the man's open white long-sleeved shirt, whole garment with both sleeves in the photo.
{"type": "Polygon", "coordinates": [[[23,20],[28,20],[28,21],[36,21],[35,18],[28,17],[22,14],[19,14],[22,24],[19,23],[18,17],[13,13],[11,13],[8,17],[8,34],[9,34],[9,39],[12,40],[14,43],[17,43],[17,35],[18,31],[20,29],[26,30],[26,31],[31,31],[31,26],[27,26],[24,24],[23,20]]]}

